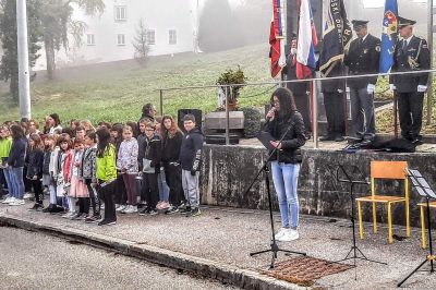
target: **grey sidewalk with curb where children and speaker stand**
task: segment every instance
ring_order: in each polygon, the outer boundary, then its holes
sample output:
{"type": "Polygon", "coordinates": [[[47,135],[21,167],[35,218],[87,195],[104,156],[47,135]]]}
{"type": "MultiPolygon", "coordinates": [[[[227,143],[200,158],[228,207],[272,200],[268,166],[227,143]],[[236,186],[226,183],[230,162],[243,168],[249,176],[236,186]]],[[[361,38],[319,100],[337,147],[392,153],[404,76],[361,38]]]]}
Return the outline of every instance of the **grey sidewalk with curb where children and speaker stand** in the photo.
{"type": "MultiPolygon", "coordinates": [[[[219,279],[245,289],[295,289],[295,286],[258,274],[266,269],[269,254],[250,257],[249,253],[269,246],[270,227],[267,212],[222,207],[204,207],[203,215],[186,218],[182,215],[140,217],[119,215],[112,227],[86,225],[62,219],[57,215],[27,212],[26,206],[0,205],[2,225],[46,232],[66,239],[88,241],[96,246],[112,247],[128,255],[173,268],[219,279]]],[[[278,215],[276,215],[278,221],[278,215]]],[[[276,222],[279,227],[279,223],[276,222]]],[[[370,232],[358,240],[359,247],[368,257],[388,263],[388,266],[358,261],[358,267],[316,281],[314,289],[393,289],[397,282],[414,269],[426,256],[421,249],[420,230],[412,229],[412,238],[389,245],[387,229],[378,234],[370,232]]],[[[404,229],[395,228],[399,237],[404,229]]],[[[350,221],[302,216],[298,241],[280,243],[283,249],[303,251],[307,255],[337,261],[351,246],[350,221]]],[[[290,257],[279,254],[278,261],[290,257]]],[[[352,262],[350,262],[352,263],[352,262]]],[[[408,289],[434,289],[436,274],[413,276],[408,289]]]]}

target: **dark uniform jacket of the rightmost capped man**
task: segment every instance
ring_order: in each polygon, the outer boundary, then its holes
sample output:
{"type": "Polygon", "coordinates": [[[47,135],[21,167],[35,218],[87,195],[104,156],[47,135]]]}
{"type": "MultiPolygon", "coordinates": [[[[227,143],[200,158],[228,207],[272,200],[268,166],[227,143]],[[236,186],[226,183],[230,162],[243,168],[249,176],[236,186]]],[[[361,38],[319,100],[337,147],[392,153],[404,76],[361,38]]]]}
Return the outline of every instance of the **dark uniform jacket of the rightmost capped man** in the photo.
{"type": "MultiPolygon", "coordinates": [[[[397,43],[393,57],[392,72],[429,70],[431,59],[428,45],[425,39],[413,36],[403,49],[405,40],[397,43]]],[[[427,85],[428,73],[391,75],[390,83],[395,84],[398,93],[417,92],[419,85],[427,85]]]]}

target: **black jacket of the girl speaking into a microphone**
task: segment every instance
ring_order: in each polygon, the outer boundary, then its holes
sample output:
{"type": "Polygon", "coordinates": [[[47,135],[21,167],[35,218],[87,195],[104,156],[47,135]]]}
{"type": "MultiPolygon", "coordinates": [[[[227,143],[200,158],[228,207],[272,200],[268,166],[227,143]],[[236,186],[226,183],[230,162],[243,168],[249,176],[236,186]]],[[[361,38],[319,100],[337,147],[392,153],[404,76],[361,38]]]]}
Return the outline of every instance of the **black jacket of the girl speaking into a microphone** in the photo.
{"type": "Polygon", "coordinates": [[[288,120],[279,117],[275,118],[267,123],[265,131],[269,132],[276,141],[279,141],[289,126],[290,130],[283,137],[281,149],[271,156],[271,161],[277,160],[284,164],[299,164],[302,161],[300,147],[306,143],[306,137],[304,135],[303,117],[300,112],[293,112],[288,120]]]}

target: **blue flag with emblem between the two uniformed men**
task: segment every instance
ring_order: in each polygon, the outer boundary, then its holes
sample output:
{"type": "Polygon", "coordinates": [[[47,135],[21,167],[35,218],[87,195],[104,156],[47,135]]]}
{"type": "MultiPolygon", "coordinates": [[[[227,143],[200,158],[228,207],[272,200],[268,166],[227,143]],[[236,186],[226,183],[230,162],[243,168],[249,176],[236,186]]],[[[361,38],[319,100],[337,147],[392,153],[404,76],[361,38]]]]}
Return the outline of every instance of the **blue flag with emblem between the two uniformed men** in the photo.
{"type": "Polygon", "coordinates": [[[393,51],[398,41],[398,4],[397,0],[386,0],[383,19],[380,73],[389,72],[393,64],[393,51]]]}

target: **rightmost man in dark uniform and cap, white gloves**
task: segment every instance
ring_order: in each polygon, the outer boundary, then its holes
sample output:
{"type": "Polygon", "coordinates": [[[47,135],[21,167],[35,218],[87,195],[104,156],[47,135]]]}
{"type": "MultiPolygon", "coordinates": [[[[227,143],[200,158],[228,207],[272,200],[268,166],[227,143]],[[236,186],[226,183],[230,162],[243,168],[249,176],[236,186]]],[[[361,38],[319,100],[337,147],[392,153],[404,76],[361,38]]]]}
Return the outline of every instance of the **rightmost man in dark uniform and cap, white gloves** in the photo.
{"type": "MultiPolygon", "coordinates": [[[[392,72],[429,70],[431,57],[427,41],[413,35],[415,21],[398,17],[401,40],[397,43],[392,72]]],[[[401,135],[412,143],[421,142],[424,93],[428,73],[390,76],[390,89],[397,92],[401,135]]]]}

